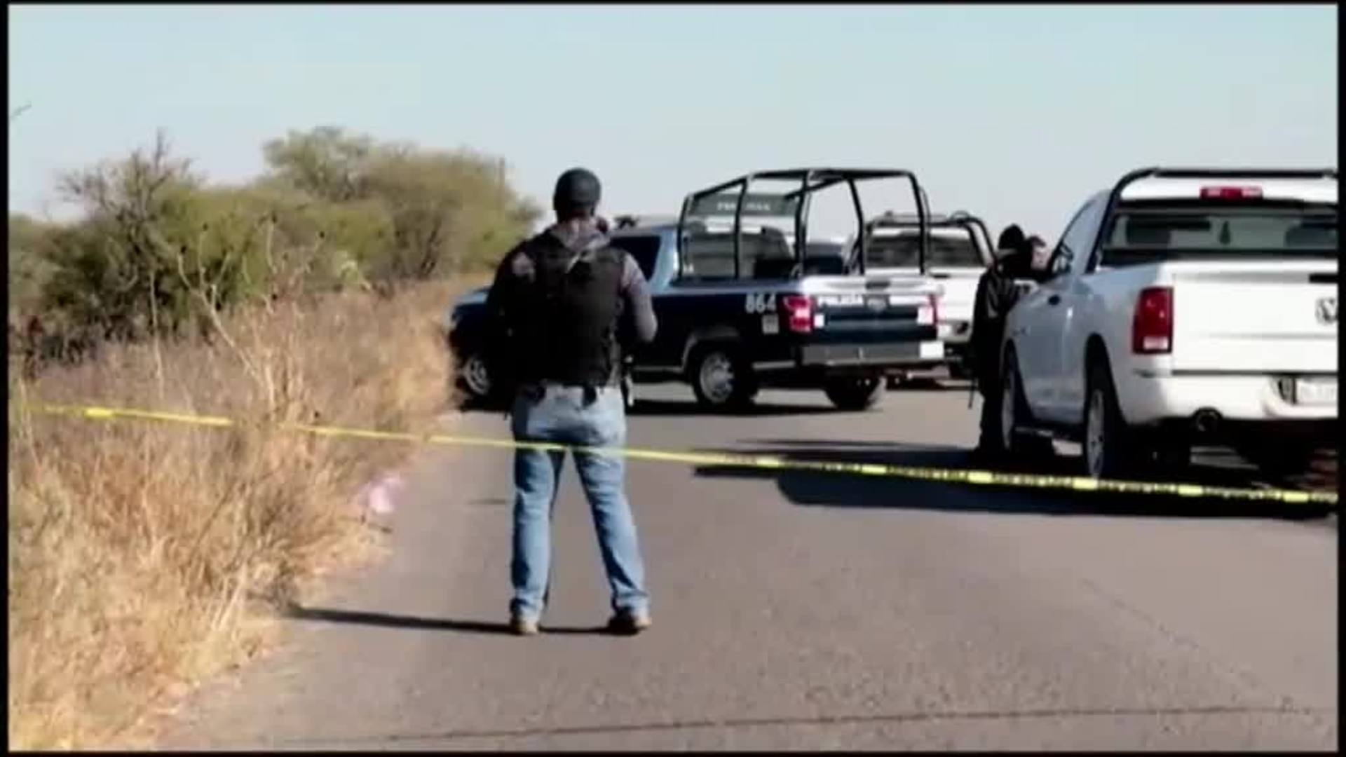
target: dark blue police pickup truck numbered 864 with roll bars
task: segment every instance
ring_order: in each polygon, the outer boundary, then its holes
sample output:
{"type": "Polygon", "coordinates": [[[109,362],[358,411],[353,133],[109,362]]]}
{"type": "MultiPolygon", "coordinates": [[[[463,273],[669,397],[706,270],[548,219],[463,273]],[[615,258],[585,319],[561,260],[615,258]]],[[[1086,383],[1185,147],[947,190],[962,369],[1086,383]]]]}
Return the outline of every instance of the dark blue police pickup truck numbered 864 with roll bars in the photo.
{"type": "MultiPolygon", "coordinates": [[[[944,360],[940,287],[918,271],[867,273],[864,255],[808,241],[810,198],[849,190],[857,245],[867,244],[856,185],[899,179],[927,236],[925,195],[910,171],[800,168],[763,171],[692,193],[676,218],[618,218],[611,238],[639,263],[658,335],[633,356],[638,383],[681,380],[713,408],[742,407],[763,385],[821,388],[844,409],[882,396],[883,377],[944,360]],[[775,193],[750,191],[762,183],[775,193]],[[773,224],[774,221],[774,224],[773,224]]],[[[486,290],[455,303],[447,334],[458,385],[490,393],[481,338],[486,290]]]]}

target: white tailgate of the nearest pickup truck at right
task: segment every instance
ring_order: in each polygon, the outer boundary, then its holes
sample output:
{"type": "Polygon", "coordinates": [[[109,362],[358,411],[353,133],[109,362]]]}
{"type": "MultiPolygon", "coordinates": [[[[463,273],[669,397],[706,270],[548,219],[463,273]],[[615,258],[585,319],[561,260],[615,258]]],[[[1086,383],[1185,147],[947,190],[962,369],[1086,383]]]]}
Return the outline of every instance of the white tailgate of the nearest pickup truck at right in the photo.
{"type": "Polygon", "coordinates": [[[1337,263],[1171,268],[1174,370],[1337,372],[1337,263]]]}

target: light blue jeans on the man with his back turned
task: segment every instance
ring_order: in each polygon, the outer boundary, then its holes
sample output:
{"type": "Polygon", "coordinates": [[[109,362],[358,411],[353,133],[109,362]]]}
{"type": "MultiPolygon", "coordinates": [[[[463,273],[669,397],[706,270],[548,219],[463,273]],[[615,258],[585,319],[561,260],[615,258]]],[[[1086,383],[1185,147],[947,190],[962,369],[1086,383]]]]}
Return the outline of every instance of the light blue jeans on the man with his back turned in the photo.
{"type": "MultiPolygon", "coordinates": [[[[598,389],[584,403],[579,387],[546,385],[541,396],[520,392],[514,400],[513,432],[521,442],[553,442],[584,447],[621,447],[626,443],[626,407],[618,387],[598,389]]],[[[514,558],[510,578],[516,617],[537,620],[546,606],[552,567],[552,509],[565,451],[520,449],[514,453],[514,558]]],[[[612,591],[614,612],[649,612],[645,564],[631,506],[626,501],[626,459],[604,454],[575,454],[584,485],[603,567],[612,591]]]]}

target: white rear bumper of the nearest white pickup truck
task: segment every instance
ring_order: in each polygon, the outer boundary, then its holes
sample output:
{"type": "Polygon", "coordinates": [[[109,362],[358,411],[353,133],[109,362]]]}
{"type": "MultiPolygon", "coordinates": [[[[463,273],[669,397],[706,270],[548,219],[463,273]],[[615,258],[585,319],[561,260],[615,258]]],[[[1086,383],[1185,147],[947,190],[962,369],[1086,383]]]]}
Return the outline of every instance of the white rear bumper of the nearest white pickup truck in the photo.
{"type": "MultiPolygon", "coordinates": [[[[1121,414],[1132,426],[1190,420],[1214,412],[1222,420],[1294,424],[1334,422],[1337,405],[1288,401],[1275,374],[1145,374],[1132,373],[1117,384],[1121,414]]],[[[1337,376],[1333,374],[1335,380],[1337,376]]]]}

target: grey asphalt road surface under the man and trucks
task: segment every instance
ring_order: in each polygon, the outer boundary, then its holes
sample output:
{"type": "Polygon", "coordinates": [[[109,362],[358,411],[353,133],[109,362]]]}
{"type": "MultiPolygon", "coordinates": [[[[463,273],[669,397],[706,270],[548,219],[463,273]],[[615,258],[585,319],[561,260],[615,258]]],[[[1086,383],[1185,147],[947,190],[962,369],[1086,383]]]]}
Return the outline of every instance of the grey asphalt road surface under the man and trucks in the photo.
{"type": "MultiPolygon", "coordinates": [[[[630,443],[965,466],[962,391],[696,411],[639,387],[630,443]]],[[[460,427],[505,435],[498,415],[460,427]]],[[[1066,461],[1069,462],[1069,461],[1066,461]]],[[[1210,480],[1246,474],[1201,471],[1210,480]]],[[[544,634],[506,634],[510,457],[436,453],[393,552],[163,746],[1335,749],[1335,520],[1272,508],[633,462],[654,628],[607,593],[571,467],[544,634]]]]}

